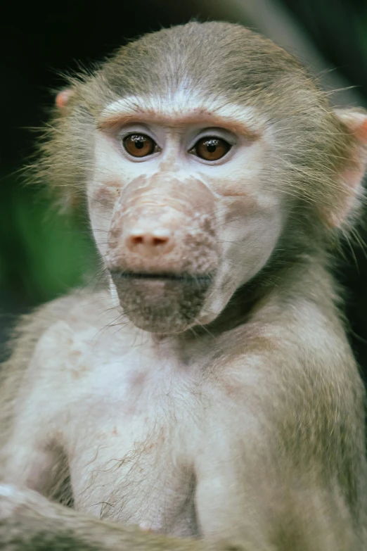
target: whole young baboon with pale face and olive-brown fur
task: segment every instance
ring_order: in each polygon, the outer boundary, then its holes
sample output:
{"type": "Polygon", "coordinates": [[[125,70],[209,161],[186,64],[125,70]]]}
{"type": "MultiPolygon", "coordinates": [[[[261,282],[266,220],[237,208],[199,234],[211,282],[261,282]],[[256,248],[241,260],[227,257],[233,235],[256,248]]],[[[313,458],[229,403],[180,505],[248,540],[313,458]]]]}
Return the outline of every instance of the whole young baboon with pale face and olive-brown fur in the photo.
{"type": "Polygon", "coordinates": [[[2,368],[2,549],[366,549],[331,270],[366,156],[366,113],[241,25],[70,77],[34,180],[86,206],[103,277],[24,317],[2,368]]]}

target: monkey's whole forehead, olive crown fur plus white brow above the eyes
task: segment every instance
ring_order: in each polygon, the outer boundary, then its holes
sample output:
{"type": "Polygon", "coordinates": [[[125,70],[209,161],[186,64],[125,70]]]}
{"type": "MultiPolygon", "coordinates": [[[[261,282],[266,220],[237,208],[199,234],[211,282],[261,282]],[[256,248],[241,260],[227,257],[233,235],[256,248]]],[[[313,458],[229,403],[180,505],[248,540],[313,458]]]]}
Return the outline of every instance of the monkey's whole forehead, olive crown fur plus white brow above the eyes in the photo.
{"type": "Polygon", "coordinates": [[[288,118],[290,108],[302,103],[301,89],[310,85],[288,53],[224,23],[148,34],[117,51],[96,82],[101,129],[150,119],[226,127],[247,136],[261,132],[274,115],[288,118]]]}

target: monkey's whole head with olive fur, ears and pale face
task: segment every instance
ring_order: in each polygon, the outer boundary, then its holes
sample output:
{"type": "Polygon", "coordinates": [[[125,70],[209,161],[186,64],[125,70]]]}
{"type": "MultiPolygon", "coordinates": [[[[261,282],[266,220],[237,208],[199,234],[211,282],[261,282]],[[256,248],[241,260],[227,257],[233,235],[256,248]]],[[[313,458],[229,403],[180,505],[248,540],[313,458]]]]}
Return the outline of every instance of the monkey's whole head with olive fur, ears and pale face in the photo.
{"type": "Polygon", "coordinates": [[[147,35],[56,103],[48,173],[86,190],[112,294],[146,331],[212,322],[287,243],[317,246],[364,170],[366,115],[335,113],[292,56],[237,25],[147,35]]]}

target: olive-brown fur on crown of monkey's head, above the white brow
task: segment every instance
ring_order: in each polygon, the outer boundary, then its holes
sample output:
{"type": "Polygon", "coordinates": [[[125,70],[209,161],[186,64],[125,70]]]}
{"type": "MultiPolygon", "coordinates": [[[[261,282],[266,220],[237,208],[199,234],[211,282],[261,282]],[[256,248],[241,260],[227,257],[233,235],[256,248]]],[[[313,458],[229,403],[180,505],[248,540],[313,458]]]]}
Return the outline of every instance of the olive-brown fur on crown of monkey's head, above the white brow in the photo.
{"type": "Polygon", "coordinates": [[[198,96],[202,101],[211,96],[211,103],[223,96],[222,103],[249,98],[256,103],[290,73],[292,80],[296,73],[302,80],[292,56],[240,25],[189,23],[122,47],[99,75],[117,98],[155,96],[185,108],[186,101],[198,105],[198,96]]]}

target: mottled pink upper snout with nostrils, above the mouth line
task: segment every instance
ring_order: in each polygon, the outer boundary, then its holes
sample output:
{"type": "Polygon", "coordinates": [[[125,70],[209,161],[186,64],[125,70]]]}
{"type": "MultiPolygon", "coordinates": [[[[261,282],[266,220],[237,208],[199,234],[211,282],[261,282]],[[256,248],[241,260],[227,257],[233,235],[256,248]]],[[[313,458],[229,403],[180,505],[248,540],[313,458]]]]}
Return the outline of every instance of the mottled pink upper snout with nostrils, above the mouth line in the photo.
{"type": "Polygon", "coordinates": [[[218,261],[214,212],[214,196],[199,180],[162,175],[133,180],[112,215],[109,269],[212,273],[218,261]]]}

